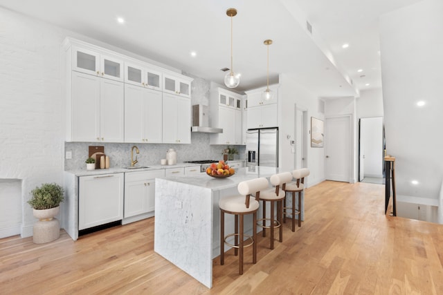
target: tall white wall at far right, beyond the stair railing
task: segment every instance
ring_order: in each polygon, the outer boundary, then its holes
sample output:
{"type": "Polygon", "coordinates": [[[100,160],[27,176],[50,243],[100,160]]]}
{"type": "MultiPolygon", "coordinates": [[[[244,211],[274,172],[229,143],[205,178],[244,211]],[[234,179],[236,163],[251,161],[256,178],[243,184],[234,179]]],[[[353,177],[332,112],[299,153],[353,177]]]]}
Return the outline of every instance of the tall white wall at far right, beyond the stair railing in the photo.
{"type": "Polygon", "coordinates": [[[396,158],[397,196],[437,199],[443,176],[443,1],[391,12],[379,28],[386,151],[396,158]],[[426,105],[417,107],[419,100],[426,105]]]}

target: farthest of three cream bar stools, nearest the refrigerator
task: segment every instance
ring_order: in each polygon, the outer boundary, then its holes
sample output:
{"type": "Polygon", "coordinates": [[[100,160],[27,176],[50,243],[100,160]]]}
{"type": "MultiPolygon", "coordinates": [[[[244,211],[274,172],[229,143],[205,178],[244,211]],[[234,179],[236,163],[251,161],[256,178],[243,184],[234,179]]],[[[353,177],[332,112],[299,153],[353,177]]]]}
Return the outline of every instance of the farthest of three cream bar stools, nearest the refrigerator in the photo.
{"type": "Polygon", "coordinates": [[[309,169],[303,168],[294,170],[292,172],[293,178],[296,182],[286,184],[284,191],[292,193],[292,207],[286,206],[286,198],[284,198],[283,204],[283,222],[286,222],[286,216],[291,215],[292,219],[292,231],[296,231],[296,215],[298,215],[298,227],[302,226],[301,209],[302,209],[302,192],[305,190],[305,177],[309,175],[309,169]],[[298,193],[298,210],[296,210],[296,193],[298,193]],[[291,210],[289,213],[288,210],[291,210]]]}

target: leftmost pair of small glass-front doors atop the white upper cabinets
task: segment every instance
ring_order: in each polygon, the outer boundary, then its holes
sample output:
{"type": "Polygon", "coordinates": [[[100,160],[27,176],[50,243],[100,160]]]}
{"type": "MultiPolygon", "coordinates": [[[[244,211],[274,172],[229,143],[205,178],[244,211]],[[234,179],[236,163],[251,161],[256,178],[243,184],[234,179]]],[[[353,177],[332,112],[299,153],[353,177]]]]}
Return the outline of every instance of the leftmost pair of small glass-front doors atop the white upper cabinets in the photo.
{"type": "Polygon", "coordinates": [[[87,48],[73,47],[72,69],[123,82],[123,60],[87,48]]]}

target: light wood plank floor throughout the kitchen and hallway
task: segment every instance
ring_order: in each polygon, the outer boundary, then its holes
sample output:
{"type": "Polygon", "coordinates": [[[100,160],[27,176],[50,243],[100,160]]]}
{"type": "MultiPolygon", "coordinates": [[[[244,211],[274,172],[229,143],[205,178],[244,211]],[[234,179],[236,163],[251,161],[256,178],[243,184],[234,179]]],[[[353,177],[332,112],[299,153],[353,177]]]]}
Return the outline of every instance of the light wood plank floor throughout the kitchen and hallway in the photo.
{"type": "MultiPolygon", "coordinates": [[[[305,222],[257,264],[246,251],[214,260],[208,289],[154,253],[154,218],[74,242],[0,240],[0,294],[443,294],[443,225],[383,214],[384,186],[322,182],[305,193],[305,222]]],[[[251,249],[249,247],[248,249],[251,249]]]]}

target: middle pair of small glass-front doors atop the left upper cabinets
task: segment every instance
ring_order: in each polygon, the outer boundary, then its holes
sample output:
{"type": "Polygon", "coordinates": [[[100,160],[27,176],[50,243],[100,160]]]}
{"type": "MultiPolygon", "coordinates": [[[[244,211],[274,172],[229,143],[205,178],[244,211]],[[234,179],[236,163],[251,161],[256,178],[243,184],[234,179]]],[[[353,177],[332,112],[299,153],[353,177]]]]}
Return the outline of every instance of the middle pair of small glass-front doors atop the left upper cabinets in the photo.
{"type": "Polygon", "coordinates": [[[125,62],[125,83],[161,91],[161,76],[159,70],[125,62]]]}

